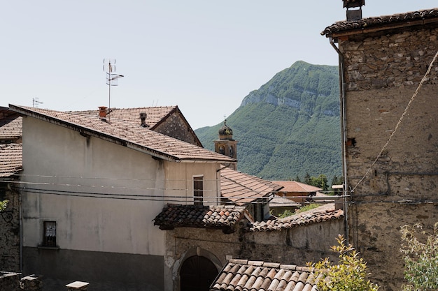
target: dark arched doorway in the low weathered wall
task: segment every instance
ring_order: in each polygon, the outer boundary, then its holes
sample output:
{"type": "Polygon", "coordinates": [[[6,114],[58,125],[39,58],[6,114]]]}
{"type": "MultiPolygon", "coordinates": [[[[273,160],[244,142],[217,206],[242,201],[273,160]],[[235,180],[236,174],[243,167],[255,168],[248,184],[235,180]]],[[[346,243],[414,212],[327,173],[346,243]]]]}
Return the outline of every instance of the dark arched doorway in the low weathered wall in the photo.
{"type": "Polygon", "coordinates": [[[208,291],[218,276],[218,269],[211,260],[193,255],[183,262],[180,270],[181,291],[208,291]]]}

